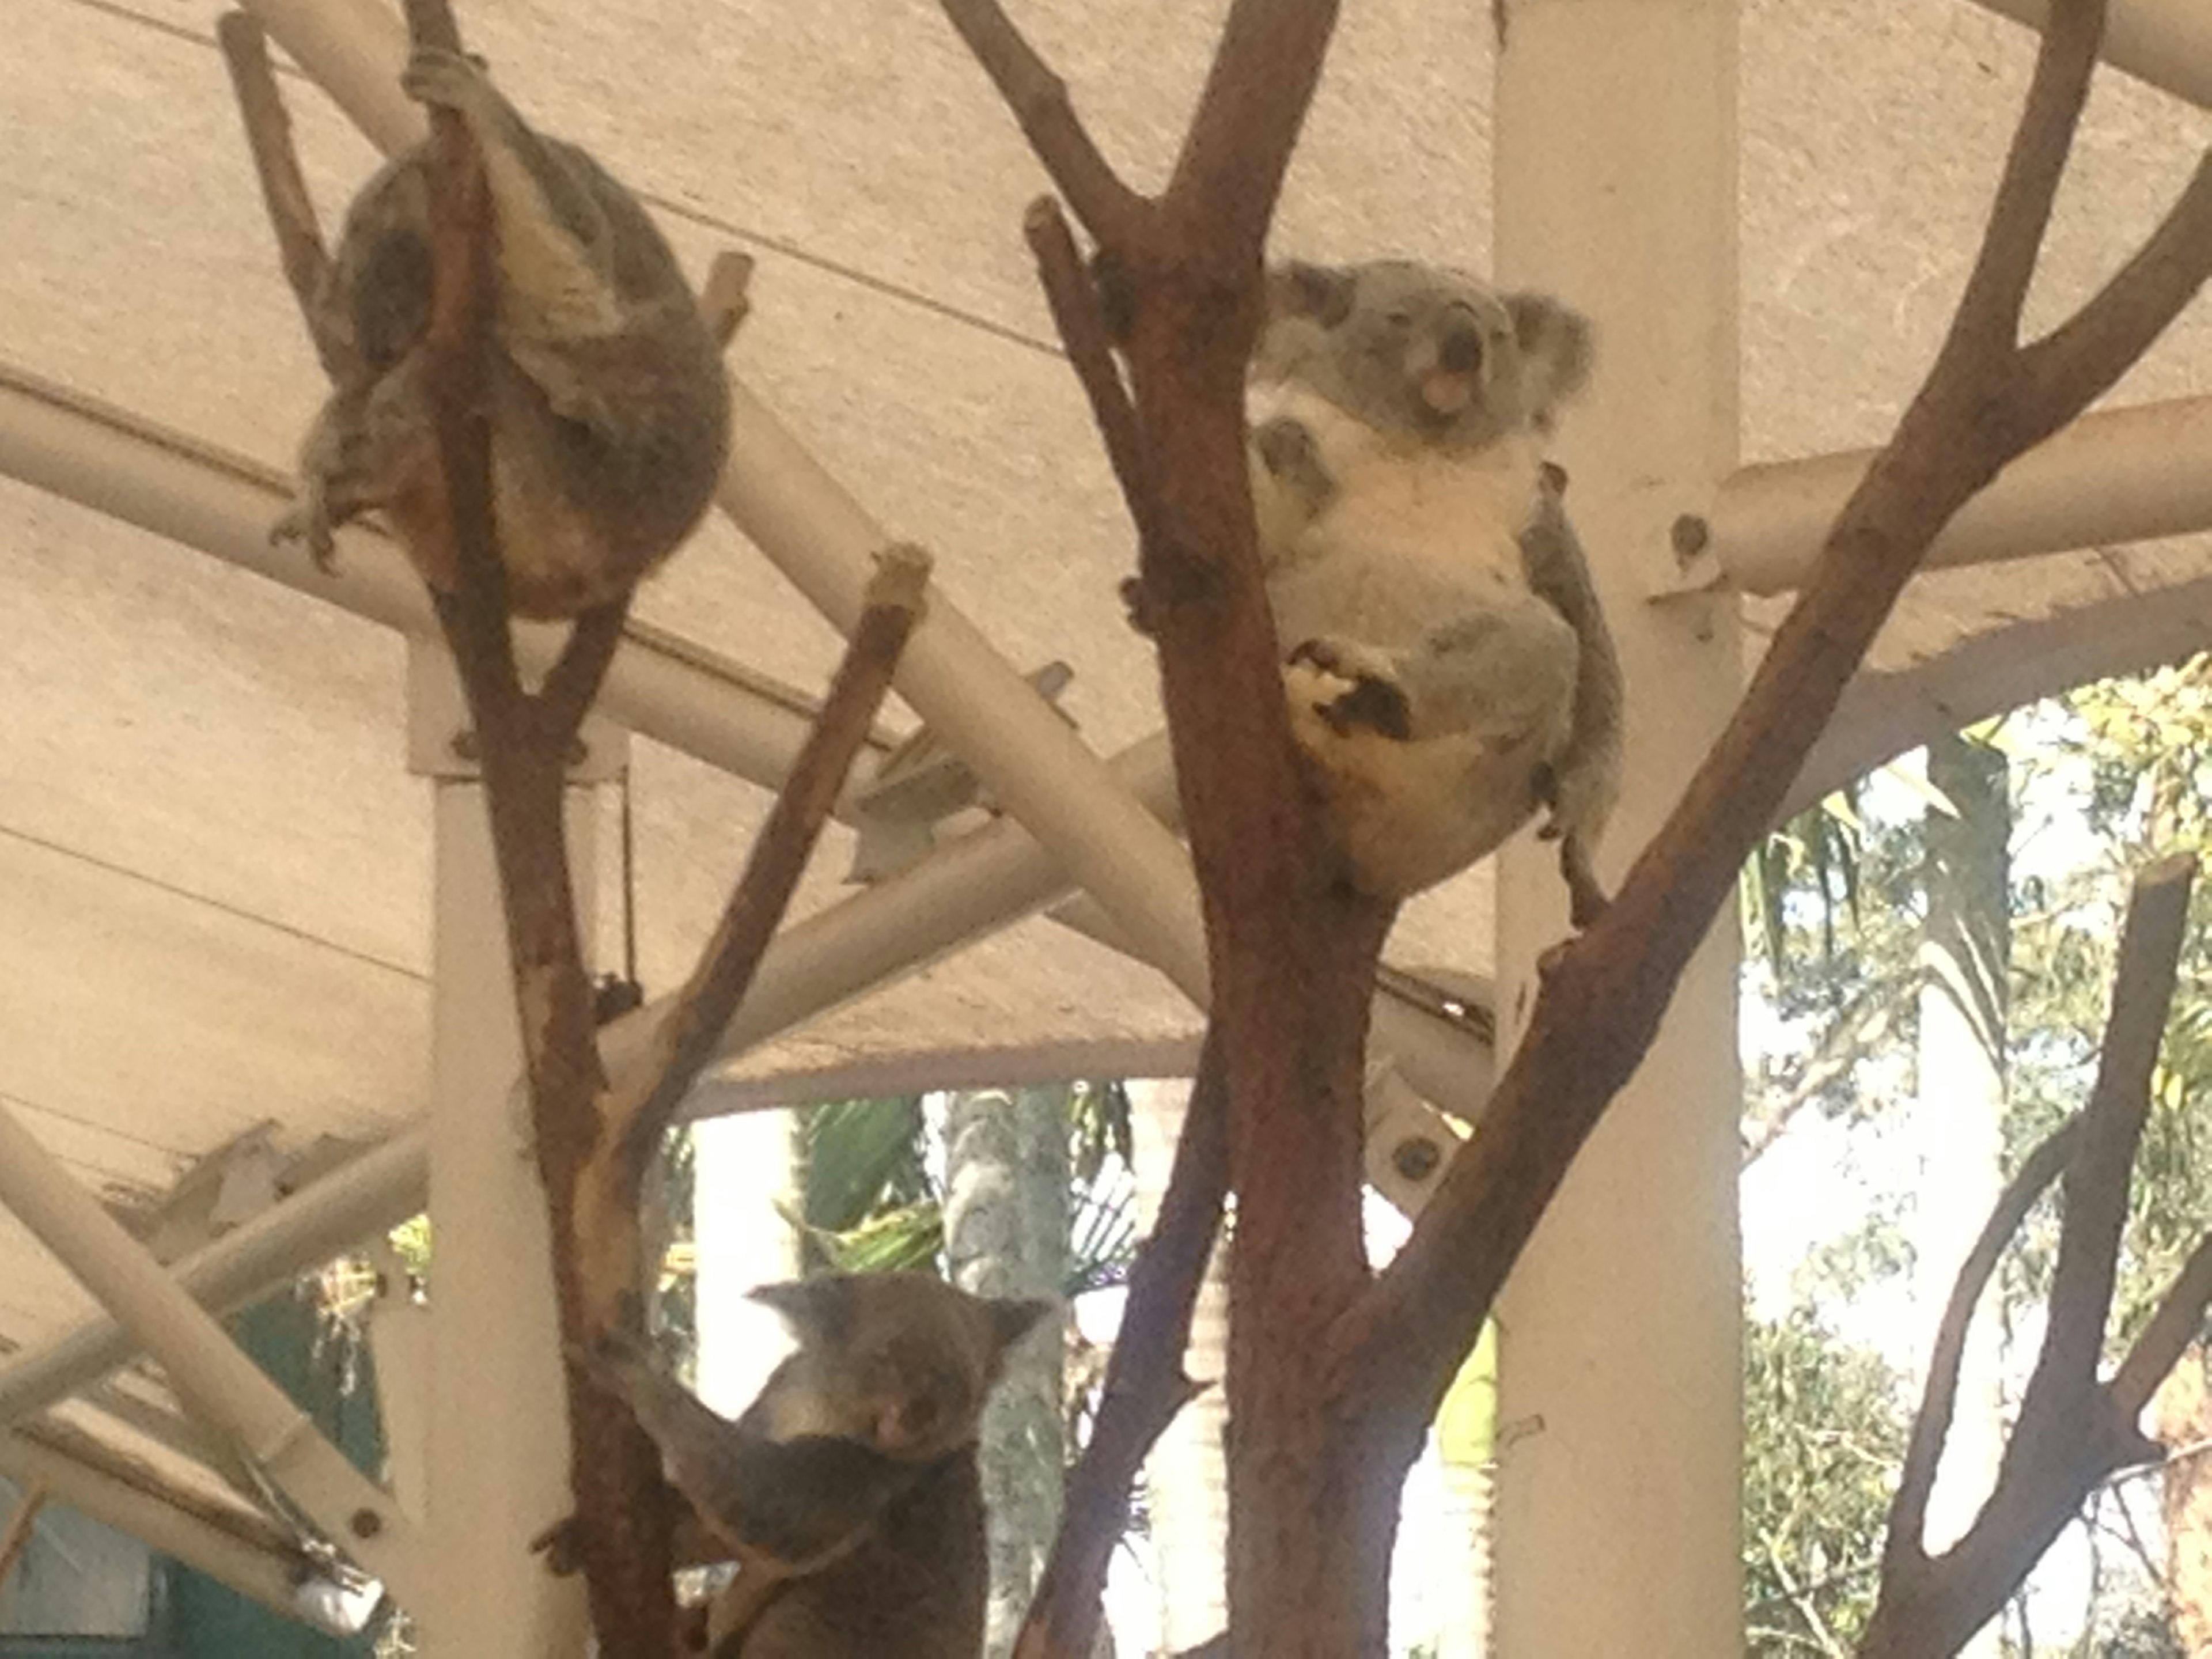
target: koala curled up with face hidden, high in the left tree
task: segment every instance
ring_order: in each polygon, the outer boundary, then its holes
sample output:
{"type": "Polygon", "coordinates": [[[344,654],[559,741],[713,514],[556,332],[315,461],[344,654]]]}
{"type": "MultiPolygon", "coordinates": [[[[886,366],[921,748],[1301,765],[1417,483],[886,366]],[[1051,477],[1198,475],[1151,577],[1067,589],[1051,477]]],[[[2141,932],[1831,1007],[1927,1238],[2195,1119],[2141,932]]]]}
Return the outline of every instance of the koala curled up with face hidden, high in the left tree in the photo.
{"type": "MultiPolygon", "coordinates": [[[[628,593],[706,513],[730,447],[719,343],[661,232],[584,150],[533,133],[471,60],[416,51],[403,77],[458,113],[484,159],[495,243],[491,495],[509,608],[573,617],[628,593]]],[[[349,361],[301,447],[274,538],[332,566],[334,531],[376,509],[451,593],[420,343],[429,327],[427,148],[356,197],[314,296],[349,361]]]]}

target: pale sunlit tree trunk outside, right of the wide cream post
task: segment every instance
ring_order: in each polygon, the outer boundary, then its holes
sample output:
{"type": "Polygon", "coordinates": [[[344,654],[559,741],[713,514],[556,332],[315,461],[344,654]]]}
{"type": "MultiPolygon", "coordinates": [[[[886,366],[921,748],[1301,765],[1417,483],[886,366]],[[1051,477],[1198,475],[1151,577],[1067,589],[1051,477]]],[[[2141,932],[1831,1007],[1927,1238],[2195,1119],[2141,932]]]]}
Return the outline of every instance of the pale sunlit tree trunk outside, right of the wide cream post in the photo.
{"type": "MultiPolygon", "coordinates": [[[[2004,1024],[2011,967],[2011,779],[1986,743],[1947,734],[1929,743],[1929,783],[1955,816],[1927,814],[1927,927],[1920,940],[1920,1091],[1916,1128],[1924,1157],[1913,1225],[1916,1301],[1924,1332],[1936,1321],[2004,1188],[2004,1024]]],[[[1997,1391],[2000,1327],[1975,1321],[1960,1369],[1958,1409],[1929,1502],[1931,1551],[1973,1522],[2004,1455],[1997,1391]]],[[[1920,1356],[1931,1340],[1918,1343],[1920,1356]]],[[[1995,1659],[1991,1621],[1960,1652],[1995,1659]]]]}

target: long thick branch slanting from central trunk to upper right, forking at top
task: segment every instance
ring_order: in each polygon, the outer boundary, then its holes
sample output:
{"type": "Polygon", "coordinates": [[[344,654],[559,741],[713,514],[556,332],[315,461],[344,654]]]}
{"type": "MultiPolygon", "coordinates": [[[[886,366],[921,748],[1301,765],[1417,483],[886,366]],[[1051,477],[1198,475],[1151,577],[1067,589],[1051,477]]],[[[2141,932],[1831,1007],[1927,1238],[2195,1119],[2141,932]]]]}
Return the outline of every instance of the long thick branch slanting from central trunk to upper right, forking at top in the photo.
{"type": "MultiPolygon", "coordinates": [[[[2079,115],[2101,0],[2059,0],[2000,210],[1944,349],[1896,436],[1827,535],[1805,595],[1683,801],[1637,858],[1613,909],[1555,958],[1531,1029],[1491,1095],[1482,1135],[1453,1159],[1407,1248],[1338,1332],[1347,1411],[1425,1420],[1606,1104],[1657,1035],[1692,951],[1774,818],[1929,542],[2033,438],[2079,414],[2028,380],[2015,294],[2048,221],[2048,175],[2079,115]],[[2002,341],[1991,345],[1991,341],[2002,341]]],[[[2117,376],[2212,272],[2194,199],[2154,243],[2161,283],[2130,288],[2130,330],[2073,347],[2073,389],[2117,376]],[[2172,228],[2172,226],[2179,226],[2172,228]]]]}

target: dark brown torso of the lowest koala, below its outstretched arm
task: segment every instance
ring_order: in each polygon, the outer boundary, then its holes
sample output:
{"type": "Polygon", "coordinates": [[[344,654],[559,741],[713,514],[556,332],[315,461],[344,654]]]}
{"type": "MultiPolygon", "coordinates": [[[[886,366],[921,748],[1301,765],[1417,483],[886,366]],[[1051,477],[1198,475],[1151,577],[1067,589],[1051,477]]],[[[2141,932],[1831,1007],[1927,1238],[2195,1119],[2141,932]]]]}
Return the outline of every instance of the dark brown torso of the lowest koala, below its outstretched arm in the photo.
{"type": "Polygon", "coordinates": [[[975,1449],[945,1458],[860,1548],[781,1586],[714,1659],[978,1659],[989,1557],[975,1449]]]}

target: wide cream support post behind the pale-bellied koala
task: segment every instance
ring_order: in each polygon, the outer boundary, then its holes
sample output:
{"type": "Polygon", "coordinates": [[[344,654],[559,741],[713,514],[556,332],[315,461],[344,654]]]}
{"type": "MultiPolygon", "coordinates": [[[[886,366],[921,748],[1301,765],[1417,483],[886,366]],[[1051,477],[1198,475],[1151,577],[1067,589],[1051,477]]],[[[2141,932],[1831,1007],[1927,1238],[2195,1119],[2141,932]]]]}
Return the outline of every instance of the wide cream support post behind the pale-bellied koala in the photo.
{"type": "MultiPolygon", "coordinates": [[[[1597,327],[1562,460],[1630,688],[1610,885],[1743,686],[1732,595],[1644,602],[1736,458],[1736,0],[1504,0],[1498,24],[1500,279],[1597,327]]],[[[1506,849],[1498,916],[1504,1051],[1566,931],[1546,843],[1506,849]]],[[[1741,1648],[1734,967],[1723,920],[1506,1283],[1502,1659],[1741,1648]]]]}

